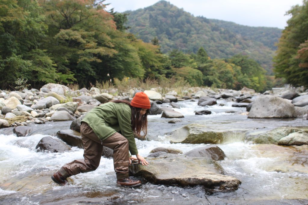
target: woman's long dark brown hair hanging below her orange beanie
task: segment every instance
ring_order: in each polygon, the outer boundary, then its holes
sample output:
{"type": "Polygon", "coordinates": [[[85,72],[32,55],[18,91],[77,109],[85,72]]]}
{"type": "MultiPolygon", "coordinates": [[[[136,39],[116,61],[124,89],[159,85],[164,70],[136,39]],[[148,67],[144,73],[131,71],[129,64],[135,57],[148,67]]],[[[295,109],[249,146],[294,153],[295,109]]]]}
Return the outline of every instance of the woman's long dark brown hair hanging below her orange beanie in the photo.
{"type": "Polygon", "coordinates": [[[140,114],[141,108],[136,108],[131,106],[131,104],[128,101],[125,100],[113,100],[110,102],[114,103],[126,103],[131,107],[132,110],[132,130],[133,132],[141,137],[145,137],[148,133],[148,113],[149,109],[144,115],[140,114]],[[140,133],[143,132],[144,135],[141,135],[140,133]]]}

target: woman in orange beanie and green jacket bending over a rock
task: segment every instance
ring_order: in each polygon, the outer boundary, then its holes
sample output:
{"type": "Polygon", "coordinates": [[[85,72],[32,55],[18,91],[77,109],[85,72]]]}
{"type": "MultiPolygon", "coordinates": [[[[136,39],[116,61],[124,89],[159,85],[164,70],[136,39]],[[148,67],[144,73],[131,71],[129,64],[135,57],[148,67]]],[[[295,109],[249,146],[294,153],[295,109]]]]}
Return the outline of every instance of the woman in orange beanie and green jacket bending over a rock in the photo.
{"type": "Polygon", "coordinates": [[[141,181],[130,179],[128,164],[131,159],[142,165],[149,164],[138,154],[134,133],[147,134],[147,115],[151,104],[148,96],[136,93],[131,103],[116,100],[93,108],[81,121],[80,133],[83,141],[84,159],[65,164],[55,172],[51,179],[59,185],[67,184],[67,177],[79,173],[94,171],[99,166],[103,146],[113,149],[113,165],[117,184],[126,187],[141,186],[141,181]],[[129,152],[135,157],[129,157],[129,152]]]}

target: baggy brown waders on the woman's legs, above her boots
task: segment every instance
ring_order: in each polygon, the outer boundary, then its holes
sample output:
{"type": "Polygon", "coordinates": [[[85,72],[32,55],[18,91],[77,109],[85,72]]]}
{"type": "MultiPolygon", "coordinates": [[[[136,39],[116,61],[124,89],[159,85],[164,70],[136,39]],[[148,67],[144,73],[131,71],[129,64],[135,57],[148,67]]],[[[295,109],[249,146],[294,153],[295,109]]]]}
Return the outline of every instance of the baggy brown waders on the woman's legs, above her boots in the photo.
{"type": "Polygon", "coordinates": [[[85,122],[81,123],[80,132],[84,159],[67,163],[59,170],[65,179],[71,175],[96,170],[102,156],[103,146],[113,149],[113,165],[117,179],[128,178],[128,140],[123,135],[116,132],[101,141],[85,122]]]}

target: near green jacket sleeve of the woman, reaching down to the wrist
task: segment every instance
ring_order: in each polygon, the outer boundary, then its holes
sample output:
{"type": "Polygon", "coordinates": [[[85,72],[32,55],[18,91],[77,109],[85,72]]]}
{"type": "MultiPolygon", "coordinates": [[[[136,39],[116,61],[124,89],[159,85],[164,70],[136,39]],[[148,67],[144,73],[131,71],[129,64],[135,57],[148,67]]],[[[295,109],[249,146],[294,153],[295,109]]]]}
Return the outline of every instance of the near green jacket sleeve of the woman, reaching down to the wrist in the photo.
{"type": "Polygon", "coordinates": [[[132,155],[136,155],[138,154],[138,149],[132,130],[132,111],[130,107],[125,106],[124,109],[118,109],[117,112],[121,134],[128,140],[129,152],[131,152],[132,155]]]}

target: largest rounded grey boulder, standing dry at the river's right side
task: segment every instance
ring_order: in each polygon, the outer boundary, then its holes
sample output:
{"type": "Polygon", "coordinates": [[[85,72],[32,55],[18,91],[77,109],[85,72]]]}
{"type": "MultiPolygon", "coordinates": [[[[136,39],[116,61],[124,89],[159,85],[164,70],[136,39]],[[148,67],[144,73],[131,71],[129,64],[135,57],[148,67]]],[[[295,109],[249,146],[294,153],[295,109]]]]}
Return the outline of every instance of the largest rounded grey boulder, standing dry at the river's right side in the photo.
{"type": "Polygon", "coordinates": [[[248,114],[248,118],[293,118],[294,105],[277,96],[257,97],[248,114]]]}

